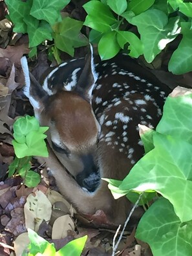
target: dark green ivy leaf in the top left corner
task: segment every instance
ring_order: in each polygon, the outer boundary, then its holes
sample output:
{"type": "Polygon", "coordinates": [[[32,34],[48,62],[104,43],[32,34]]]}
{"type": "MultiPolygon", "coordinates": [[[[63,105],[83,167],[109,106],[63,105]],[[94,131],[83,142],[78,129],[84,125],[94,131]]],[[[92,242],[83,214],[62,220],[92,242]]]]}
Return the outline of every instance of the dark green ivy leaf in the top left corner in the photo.
{"type": "Polygon", "coordinates": [[[5,3],[8,6],[10,19],[14,23],[14,32],[26,33],[27,25],[23,19],[29,14],[32,1],[6,0],[5,3]]]}

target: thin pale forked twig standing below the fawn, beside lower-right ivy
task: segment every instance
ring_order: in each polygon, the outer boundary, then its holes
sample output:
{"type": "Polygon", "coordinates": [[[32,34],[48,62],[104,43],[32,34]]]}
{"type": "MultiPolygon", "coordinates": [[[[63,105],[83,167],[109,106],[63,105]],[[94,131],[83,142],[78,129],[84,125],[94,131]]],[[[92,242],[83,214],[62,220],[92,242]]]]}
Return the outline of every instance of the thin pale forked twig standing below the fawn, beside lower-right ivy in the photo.
{"type": "Polygon", "coordinates": [[[113,242],[112,242],[112,256],[114,256],[116,254],[116,250],[118,248],[118,245],[120,244],[120,241],[122,240],[123,233],[125,231],[127,223],[129,222],[129,220],[131,218],[131,215],[133,215],[134,209],[138,206],[138,202],[140,201],[140,198],[142,197],[142,195],[143,195],[143,193],[140,194],[140,196],[138,197],[138,200],[136,200],[136,203],[134,204],[133,208],[131,209],[131,211],[130,211],[128,217],[127,217],[127,220],[125,220],[125,224],[123,226],[122,232],[120,233],[120,237],[119,237],[118,241],[115,244],[116,236],[118,234],[118,231],[120,230],[121,225],[118,226],[118,229],[117,229],[117,231],[114,235],[114,239],[113,239],[113,242]]]}

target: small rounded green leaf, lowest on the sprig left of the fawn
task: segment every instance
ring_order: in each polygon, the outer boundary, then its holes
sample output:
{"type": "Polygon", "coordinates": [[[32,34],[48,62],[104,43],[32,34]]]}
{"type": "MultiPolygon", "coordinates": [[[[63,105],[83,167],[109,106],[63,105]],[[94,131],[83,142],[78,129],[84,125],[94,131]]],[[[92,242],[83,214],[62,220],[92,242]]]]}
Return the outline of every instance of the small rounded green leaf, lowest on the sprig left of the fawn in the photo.
{"type": "Polygon", "coordinates": [[[24,178],[24,184],[27,187],[36,187],[40,181],[41,181],[41,176],[39,173],[35,173],[34,171],[28,171],[25,168],[22,168],[19,171],[19,175],[24,178]]]}

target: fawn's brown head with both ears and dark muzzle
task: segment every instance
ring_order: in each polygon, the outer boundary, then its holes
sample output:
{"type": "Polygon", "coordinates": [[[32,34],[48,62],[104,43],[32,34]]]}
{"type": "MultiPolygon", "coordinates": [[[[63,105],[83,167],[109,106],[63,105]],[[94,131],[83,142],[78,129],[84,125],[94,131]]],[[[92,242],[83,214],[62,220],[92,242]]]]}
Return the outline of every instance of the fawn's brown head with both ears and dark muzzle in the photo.
{"type": "Polygon", "coordinates": [[[50,147],[81,187],[95,190],[100,180],[96,159],[100,125],[91,106],[92,89],[97,79],[92,47],[73,91],[65,91],[61,83],[60,90],[48,93],[28,71],[25,57],[21,59],[21,66],[25,95],[39,123],[49,127],[50,147]]]}

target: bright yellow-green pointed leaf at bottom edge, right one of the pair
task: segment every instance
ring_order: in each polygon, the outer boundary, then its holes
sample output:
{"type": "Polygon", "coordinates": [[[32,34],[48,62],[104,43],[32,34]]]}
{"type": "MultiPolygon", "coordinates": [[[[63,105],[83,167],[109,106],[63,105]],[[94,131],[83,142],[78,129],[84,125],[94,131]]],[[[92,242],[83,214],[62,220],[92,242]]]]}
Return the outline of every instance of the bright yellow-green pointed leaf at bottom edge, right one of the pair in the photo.
{"type": "Polygon", "coordinates": [[[56,252],[56,256],[80,256],[86,240],[87,235],[68,242],[63,248],[56,252]]]}

